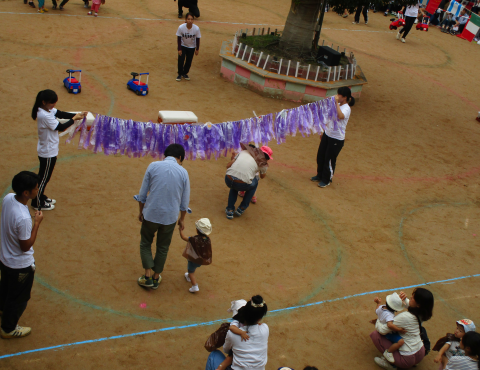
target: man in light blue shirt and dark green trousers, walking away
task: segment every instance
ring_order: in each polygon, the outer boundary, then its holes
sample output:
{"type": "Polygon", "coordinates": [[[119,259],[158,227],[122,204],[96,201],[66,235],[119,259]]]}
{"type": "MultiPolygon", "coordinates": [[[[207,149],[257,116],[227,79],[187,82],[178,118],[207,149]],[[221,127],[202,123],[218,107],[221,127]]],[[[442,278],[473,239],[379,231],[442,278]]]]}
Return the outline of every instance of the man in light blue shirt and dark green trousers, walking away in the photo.
{"type": "Polygon", "coordinates": [[[145,274],[138,284],[157,289],[162,280],[168,249],[172,241],[175,223],[180,211],[178,226],[184,229],[185,214],[190,202],[190,180],[182,167],[185,149],[180,144],[171,144],[165,149],[165,159],[151,163],[143,178],[138,201],[140,213],[140,257],[145,274]],[[148,196],[147,196],[148,194],[148,196]],[[152,255],[152,242],[157,233],[157,251],[152,255]]]}

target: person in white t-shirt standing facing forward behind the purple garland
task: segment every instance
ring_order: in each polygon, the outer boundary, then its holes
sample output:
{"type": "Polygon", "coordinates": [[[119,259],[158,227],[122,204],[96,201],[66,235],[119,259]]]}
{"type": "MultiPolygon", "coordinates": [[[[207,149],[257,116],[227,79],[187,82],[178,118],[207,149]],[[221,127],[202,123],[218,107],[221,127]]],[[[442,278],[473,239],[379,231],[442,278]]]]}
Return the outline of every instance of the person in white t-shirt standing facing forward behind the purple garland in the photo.
{"type": "Polygon", "coordinates": [[[195,19],[192,13],[187,13],[185,23],[181,24],[177,30],[177,49],[178,49],[178,76],[180,82],[182,77],[190,81],[188,72],[192,66],[193,54],[198,55],[200,50],[200,28],[193,24],[195,19]]]}

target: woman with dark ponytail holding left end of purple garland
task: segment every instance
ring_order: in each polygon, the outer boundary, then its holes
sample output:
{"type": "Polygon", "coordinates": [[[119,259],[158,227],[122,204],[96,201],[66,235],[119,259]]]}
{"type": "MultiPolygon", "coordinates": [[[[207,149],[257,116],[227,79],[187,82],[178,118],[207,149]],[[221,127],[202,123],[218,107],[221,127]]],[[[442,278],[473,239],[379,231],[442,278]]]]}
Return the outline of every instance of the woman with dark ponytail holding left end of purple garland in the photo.
{"type": "Polygon", "coordinates": [[[32,108],[32,119],[37,121],[38,144],[37,153],[40,160],[38,177],[38,194],[32,200],[32,207],[41,211],[50,211],[55,208],[55,199],[45,195],[45,187],[50,181],[58,155],[58,131],[63,131],[73,125],[74,121],[83,119],[87,112],[67,113],[55,108],[58,96],[55,91],[42,90],[37,94],[35,105],[32,108]],[[57,118],[68,119],[59,123],[57,118]]]}

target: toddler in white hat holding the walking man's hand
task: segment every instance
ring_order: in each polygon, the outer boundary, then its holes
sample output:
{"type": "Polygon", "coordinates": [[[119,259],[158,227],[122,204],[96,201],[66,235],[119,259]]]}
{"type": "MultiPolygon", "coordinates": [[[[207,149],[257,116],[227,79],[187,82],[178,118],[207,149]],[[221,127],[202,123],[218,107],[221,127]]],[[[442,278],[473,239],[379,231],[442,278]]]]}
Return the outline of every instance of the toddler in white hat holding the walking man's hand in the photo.
{"type": "Polygon", "coordinates": [[[185,280],[192,284],[191,288],[188,289],[190,293],[196,293],[200,290],[195,277],[195,270],[202,265],[212,263],[212,242],[208,237],[212,233],[212,224],[208,218],[201,218],[195,222],[195,227],[197,228],[197,235],[191,237],[185,236],[184,231],[178,229],[180,237],[188,242],[183,256],[188,260],[185,280]]]}

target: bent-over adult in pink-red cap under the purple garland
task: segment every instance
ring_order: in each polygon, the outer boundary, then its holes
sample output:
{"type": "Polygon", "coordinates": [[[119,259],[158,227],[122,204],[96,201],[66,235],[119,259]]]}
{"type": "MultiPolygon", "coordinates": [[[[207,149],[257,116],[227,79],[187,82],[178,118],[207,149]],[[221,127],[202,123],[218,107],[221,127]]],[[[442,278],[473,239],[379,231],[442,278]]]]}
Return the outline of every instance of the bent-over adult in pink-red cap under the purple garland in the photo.
{"type": "Polygon", "coordinates": [[[227,164],[227,173],[225,175],[225,184],[230,188],[228,194],[228,204],[225,213],[229,220],[233,219],[233,214],[241,216],[250,205],[252,197],[258,186],[257,172],[260,178],[267,176],[268,161],[272,158],[273,151],[268,146],[261,148],[252,148],[240,144],[242,151],[232,153],[232,160],[227,164]],[[238,192],[245,192],[240,206],[235,211],[238,192]]]}

